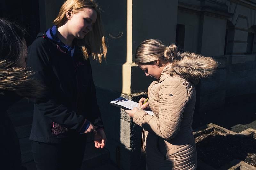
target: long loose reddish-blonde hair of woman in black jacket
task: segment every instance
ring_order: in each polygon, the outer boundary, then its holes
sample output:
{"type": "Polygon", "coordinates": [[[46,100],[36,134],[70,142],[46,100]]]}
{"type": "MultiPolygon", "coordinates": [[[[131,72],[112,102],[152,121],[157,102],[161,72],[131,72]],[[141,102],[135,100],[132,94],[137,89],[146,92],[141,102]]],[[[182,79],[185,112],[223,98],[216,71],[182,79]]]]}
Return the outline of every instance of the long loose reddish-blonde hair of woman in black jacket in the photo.
{"type": "Polygon", "coordinates": [[[67,21],[66,12],[70,9],[76,13],[83,8],[91,8],[97,12],[97,19],[94,25],[92,25],[92,31],[88,32],[83,39],[76,39],[76,43],[80,46],[84,58],[88,59],[92,55],[93,59],[102,62],[102,56],[106,59],[107,46],[105,44],[105,36],[100,19],[100,11],[98,4],[94,0],[67,0],[60,8],[60,12],[57,18],[53,21],[53,24],[57,27],[64,25],[67,21]]]}

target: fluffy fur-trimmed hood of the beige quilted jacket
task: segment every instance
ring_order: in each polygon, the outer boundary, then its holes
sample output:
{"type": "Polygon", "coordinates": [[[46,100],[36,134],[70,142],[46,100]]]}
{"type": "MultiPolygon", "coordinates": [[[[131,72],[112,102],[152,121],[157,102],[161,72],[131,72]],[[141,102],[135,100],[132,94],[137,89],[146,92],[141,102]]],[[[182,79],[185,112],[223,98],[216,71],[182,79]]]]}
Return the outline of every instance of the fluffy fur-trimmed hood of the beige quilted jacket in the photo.
{"type": "Polygon", "coordinates": [[[184,52],[180,54],[180,59],[166,66],[161,73],[160,81],[165,74],[171,76],[182,76],[185,79],[196,83],[201,78],[207,78],[212,75],[218,63],[212,57],[204,57],[196,53],[184,52]]]}

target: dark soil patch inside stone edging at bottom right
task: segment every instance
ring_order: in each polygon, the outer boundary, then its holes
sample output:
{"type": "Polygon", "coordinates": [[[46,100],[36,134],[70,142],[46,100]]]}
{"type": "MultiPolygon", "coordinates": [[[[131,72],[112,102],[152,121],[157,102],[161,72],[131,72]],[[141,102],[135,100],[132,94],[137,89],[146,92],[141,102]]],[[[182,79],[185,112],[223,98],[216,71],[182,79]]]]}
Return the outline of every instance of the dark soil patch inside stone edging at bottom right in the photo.
{"type": "Polygon", "coordinates": [[[256,140],[253,138],[211,132],[196,137],[195,142],[197,158],[214,168],[220,168],[233,159],[256,167],[256,140]]]}

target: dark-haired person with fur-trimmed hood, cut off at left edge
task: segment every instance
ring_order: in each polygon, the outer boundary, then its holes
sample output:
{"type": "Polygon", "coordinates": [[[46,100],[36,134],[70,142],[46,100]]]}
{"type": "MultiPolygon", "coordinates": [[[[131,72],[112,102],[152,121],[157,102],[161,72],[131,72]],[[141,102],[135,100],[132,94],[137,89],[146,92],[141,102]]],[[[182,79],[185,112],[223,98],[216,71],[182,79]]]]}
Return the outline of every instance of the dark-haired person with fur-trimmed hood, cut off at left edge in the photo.
{"type": "Polygon", "coordinates": [[[25,30],[0,18],[0,169],[20,170],[20,143],[7,110],[23,97],[40,98],[44,88],[26,69],[25,30]]]}

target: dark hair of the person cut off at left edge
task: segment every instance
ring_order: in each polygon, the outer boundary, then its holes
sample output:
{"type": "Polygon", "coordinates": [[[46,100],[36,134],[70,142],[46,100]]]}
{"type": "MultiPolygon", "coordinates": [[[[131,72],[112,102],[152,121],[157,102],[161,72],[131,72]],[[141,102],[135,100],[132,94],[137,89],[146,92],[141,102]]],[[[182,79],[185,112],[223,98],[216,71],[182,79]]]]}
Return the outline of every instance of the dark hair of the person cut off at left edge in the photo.
{"type": "Polygon", "coordinates": [[[20,67],[20,60],[27,56],[27,46],[22,41],[26,31],[6,19],[0,18],[0,60],[9,67],[20,67]]]}

